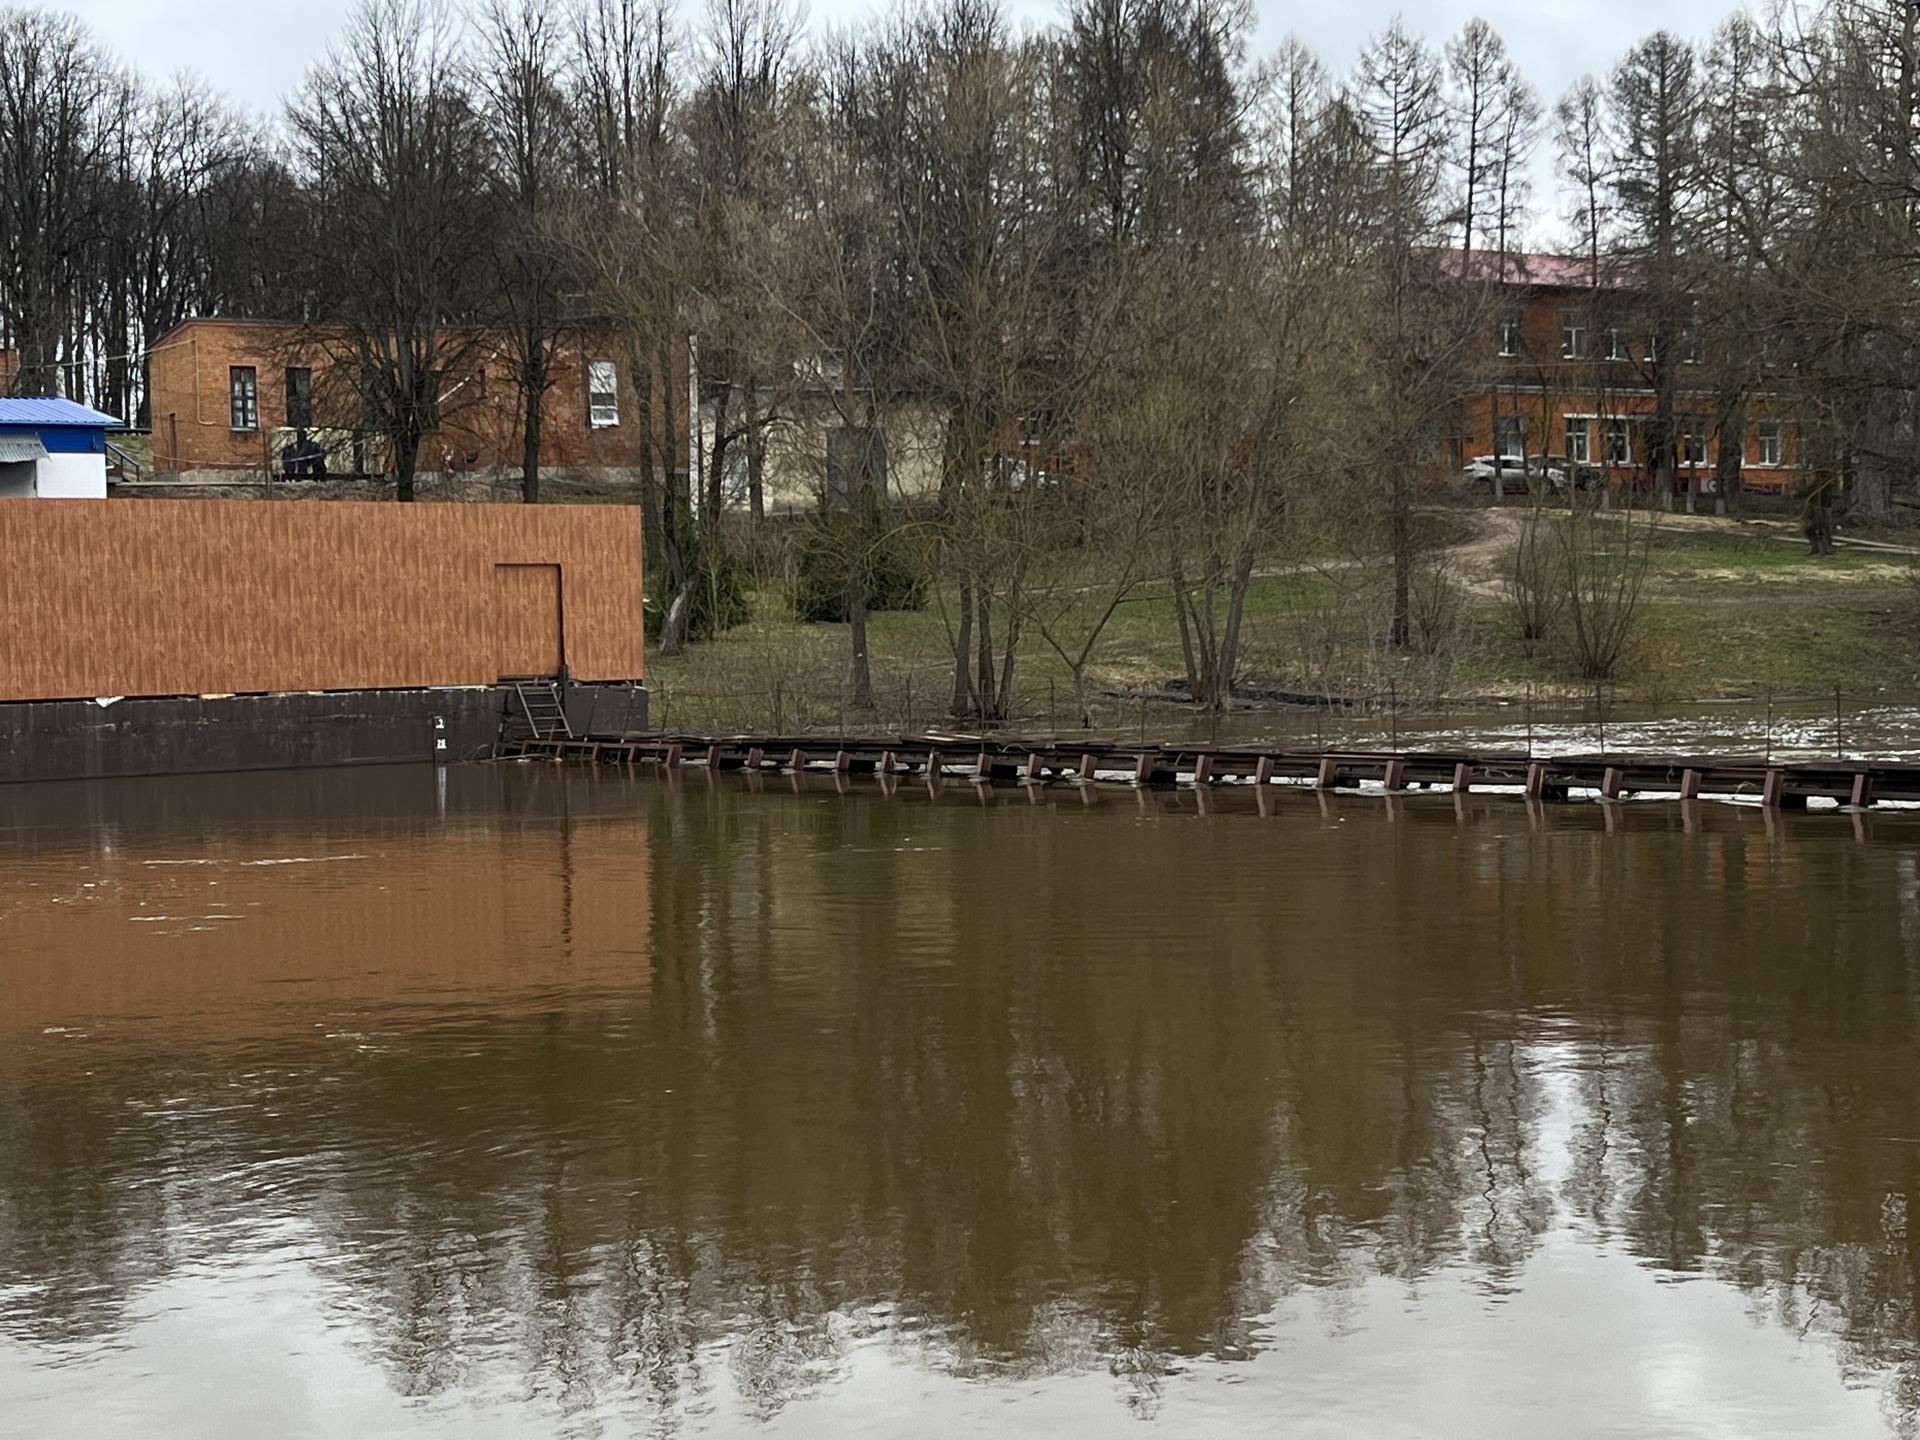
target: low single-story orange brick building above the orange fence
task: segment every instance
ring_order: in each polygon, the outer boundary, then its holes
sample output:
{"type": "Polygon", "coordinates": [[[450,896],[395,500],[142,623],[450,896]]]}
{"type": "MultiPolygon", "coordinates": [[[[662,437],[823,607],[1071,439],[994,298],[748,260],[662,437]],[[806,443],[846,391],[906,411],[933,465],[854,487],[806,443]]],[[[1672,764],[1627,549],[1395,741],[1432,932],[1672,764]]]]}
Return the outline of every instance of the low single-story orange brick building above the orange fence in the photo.
{"type": "MultiPolygon", "coordinates": [[[[518,470],[522,397],[505,338],[449,328],[440,426],[420,444],[422,474],[518,470]]],[[[324,453],[328,474],[380,474],[384,442],[361,417],[340,338],[276,321],[192,319],[148,349],[154,470],[280,472],[324,453]]],[[[666,396],[655,394],[655,413],[666,396]]],[[[685,396],[678,394],[684,415],[685,396]]],[[[543,397],[540,461],[551,470],[637,470],[641,405],[626,344],[611,330],[564,340],[543,397]]]]}

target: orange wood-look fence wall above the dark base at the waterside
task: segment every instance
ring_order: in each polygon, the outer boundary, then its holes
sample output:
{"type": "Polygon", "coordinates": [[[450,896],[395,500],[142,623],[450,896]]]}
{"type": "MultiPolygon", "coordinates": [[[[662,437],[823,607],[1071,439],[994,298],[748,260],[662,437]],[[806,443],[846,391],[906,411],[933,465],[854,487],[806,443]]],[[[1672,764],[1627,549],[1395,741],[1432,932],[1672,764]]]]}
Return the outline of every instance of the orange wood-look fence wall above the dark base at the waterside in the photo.
{"type": "Polygon", "coordinates": [[[480,685],[499,564],[555,564],[576,680],[639,680],[639,509],[0,503],[0,699],[480,685]]]}

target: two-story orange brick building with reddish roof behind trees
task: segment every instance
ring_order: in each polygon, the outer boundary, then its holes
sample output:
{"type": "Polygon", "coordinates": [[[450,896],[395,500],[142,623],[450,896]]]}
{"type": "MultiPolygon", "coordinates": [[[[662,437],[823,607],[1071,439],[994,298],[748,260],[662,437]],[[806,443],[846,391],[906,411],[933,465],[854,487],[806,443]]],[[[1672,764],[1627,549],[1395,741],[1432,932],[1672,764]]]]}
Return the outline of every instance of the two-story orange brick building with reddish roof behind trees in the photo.
{"type": "Polygon", "coordinates": [[[1645,488],[1655,380],[1667,365],[1678,371],[1676,493],[1715,493],[1722,444],[1740,444],[1745,490],[1778,492],[1799,478],[1799,438],[1780,396],[1747,394],[1734,442],[1697,338],[1680,336],[1676,355],[1659,355],[1640,294],[1596,276],[1584,257],[1517,255],[1509,265],[1486,336],[1492,382],[1465,407],[1463,455],[1553,457],[1592,467],[1611,486],[1645,488]]]}

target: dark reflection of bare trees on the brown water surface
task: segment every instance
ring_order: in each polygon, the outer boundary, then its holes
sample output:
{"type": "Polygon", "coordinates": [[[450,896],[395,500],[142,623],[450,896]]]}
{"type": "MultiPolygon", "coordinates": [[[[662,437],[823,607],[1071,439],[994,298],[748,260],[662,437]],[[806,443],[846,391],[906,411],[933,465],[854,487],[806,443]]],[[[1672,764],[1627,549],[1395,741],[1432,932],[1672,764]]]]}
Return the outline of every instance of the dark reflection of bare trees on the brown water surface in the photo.
{"type": "Polygon", "coordinates": [[[568,1432],[768,1417],[862,1344],[1152,1413],[1286,1296],[1503,1294],[1561,1223],[1834,1336],[1912,1428],[1887,852],[645,793],[643,996],[0,1071],[10,1331],[113,1334],[271,1212],[396,1388],[516,1375],[568,1432]]]}

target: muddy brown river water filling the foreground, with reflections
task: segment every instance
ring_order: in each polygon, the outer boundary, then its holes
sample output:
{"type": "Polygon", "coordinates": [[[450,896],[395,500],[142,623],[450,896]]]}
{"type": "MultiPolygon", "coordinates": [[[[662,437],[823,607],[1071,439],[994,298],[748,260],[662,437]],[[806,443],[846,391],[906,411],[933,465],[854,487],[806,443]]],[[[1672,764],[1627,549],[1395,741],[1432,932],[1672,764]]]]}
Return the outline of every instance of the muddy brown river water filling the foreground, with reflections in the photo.
{"type": "Polygon", "coordinates": [[[1901,1436],[1920,814],[0,795],[0,1434],[1901,1436]]]}

